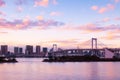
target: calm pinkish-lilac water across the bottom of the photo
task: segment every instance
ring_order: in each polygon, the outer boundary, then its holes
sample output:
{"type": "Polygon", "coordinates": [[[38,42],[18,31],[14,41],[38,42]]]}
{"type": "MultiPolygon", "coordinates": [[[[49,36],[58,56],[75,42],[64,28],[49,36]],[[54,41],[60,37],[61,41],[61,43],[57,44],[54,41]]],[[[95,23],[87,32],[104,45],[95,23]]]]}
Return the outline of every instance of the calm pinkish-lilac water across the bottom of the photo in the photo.
{"type": "Polygon", "coordinates": [[[45,63],[39,58],[0,64],[0,80],[119,80],[119,62],[45,63]]]}

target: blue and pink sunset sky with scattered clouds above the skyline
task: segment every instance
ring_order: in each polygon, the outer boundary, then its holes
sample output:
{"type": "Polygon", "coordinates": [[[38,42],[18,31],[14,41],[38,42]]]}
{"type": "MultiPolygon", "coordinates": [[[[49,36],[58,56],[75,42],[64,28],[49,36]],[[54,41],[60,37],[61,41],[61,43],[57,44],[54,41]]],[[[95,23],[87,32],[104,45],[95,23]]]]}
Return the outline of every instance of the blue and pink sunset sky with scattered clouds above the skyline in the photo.
{"type": "Polygon", "coordinates": [[[0,45],[119,48],[119,33],[120,0],[0,0],[0,45]]]}

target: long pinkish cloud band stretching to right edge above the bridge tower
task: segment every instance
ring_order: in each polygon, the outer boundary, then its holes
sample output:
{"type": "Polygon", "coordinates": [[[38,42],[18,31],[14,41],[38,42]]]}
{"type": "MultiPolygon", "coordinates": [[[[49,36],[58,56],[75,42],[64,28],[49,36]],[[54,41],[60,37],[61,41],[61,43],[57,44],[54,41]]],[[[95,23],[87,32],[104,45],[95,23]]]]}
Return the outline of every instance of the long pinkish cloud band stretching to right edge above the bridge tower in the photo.
{"type": "MultiPolygon", "coordinates": [[[[108,20],[108,19],[106,19],[108,20]]],[[[56,27],[58,30],[74,30],[74,31],[80,31],[83,33],[98,33],[98,32],[109,32],[109,31],[114,31],[114,33],[119,33],[120,32],[120,25],[119,24],[110,24],[110,25],[106,25],[103,26],[101,24],[97,24],[97,23],[88,23],[85,25],[69,25],[69,24],[65,24],[63,26],[60,27],[56,27]]]]}

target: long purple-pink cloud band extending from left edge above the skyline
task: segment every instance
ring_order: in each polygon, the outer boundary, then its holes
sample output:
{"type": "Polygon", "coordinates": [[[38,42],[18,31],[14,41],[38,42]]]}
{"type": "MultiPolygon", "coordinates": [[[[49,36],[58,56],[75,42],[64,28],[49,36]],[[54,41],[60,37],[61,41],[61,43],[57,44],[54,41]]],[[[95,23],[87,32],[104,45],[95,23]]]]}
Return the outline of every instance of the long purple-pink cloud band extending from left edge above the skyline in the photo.
{"type": "Polygon", "coordinates": [[[38,28],[38,29],[49,29],[53,26],[64,25],[62,22],[54,21],[54,20],[39,20],[32,21],[29,18],[24,18],[23,20],[16,19],[14,21],[7,21],[6,19],[0,19],[0,28],[7,29],[30,29],[30,28],[38,28]]]}

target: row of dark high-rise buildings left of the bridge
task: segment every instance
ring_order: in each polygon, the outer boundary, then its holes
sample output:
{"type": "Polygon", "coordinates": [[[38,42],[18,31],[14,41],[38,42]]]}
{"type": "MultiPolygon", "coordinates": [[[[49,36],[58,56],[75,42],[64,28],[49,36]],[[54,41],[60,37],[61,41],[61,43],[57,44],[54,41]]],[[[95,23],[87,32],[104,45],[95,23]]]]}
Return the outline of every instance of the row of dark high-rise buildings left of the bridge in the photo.
{"type": "MultiPolygon", "coordinates": [[[[9,46],[9,45],[0,45],[0,54],[6,54],[6,53],[15,53],[15,54],[40,54],[41,52],[44,52],[44,49],[46,53],[48,52],[48,47],[40,46],[40,45],[24,45],[24,47],[20,46],[9,46]]],[[[52,49],[52,48],[51,48],[52,49]]]]}

